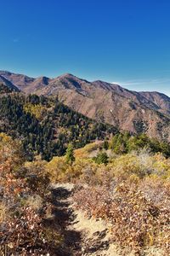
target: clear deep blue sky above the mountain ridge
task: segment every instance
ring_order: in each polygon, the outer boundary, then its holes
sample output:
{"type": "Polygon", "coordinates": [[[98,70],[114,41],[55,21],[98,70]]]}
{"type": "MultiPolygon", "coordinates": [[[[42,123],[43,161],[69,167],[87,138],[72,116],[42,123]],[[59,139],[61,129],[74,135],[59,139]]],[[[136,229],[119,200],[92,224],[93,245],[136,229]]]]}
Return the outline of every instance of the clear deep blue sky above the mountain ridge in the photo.
{"type": "Polygon", "coordinates": [[[0,0],[0,69],[170,95],[169,0],[0,0]]]}

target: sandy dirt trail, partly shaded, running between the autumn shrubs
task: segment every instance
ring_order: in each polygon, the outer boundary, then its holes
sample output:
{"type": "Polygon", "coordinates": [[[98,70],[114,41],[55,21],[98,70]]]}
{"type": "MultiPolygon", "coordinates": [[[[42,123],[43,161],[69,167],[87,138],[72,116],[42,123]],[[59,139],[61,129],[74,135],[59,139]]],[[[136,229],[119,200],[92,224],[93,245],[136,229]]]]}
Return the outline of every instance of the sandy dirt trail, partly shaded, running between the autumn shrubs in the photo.
{"type": "Polygon", "coordinates": [[[111,244],[109,226],[102,220],[86,218],[74,210],[72,199],[74,185],[57,184],[52,190],[55,206],[55,222],[64,236],[64,246],[56,255],[98,255],[119,256],[111,244]]]}

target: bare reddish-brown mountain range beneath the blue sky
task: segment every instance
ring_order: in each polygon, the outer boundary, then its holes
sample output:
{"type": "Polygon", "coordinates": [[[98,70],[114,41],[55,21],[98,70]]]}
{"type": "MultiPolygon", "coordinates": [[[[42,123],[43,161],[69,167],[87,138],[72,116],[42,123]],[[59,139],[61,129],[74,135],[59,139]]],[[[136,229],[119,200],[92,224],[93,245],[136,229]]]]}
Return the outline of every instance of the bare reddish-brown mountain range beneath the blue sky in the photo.
{"type": "Polygon", "coordinates": [[[100,80],[89,82],[69,73],[34,79],[0,71],[0,83],[26,94],[58,96],[60,102],[89,118],[170,141],[170,98],[162,93],[127,90],[100,80]]]}

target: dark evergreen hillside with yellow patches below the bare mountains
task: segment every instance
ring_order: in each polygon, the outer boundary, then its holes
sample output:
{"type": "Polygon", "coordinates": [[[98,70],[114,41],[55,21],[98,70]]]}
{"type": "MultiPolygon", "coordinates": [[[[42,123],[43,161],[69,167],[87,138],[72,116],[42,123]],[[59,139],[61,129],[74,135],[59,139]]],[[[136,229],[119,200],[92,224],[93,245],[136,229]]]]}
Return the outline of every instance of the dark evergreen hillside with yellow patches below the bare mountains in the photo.
{"type": "Polygon", "coordinates": [[[20,138],[28,160],[37,154],[50,160],[53,155],[65,154],[68,143],[80,148],[116,132],[112,125],[71,110],[57,97],[25,96],[4,85],[0,90],[0,131],[20,138]]]}

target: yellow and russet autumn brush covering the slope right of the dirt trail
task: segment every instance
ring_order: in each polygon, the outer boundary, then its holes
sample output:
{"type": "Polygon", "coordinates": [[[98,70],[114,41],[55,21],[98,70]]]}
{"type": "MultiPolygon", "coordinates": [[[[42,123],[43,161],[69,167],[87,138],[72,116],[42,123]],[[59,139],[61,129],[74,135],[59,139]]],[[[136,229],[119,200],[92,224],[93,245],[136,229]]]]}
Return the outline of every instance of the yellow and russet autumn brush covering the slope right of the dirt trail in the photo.
{"type": "Polygon", "coordinates": [[[77,186],[76,208],[110,224],[112,241],[125,255],[143,255],[150,247],[169,255],[169,173],[170,161],[161,154],[115,156],[91,172],[88,186],[77,186]]]}

